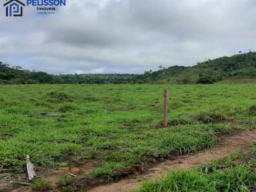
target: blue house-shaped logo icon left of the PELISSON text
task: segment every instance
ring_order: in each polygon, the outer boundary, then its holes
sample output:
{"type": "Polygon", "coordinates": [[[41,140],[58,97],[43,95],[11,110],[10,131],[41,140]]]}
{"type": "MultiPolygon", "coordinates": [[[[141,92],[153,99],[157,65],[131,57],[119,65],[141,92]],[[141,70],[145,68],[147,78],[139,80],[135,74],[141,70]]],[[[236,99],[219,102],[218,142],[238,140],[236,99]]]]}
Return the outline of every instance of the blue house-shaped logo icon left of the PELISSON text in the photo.
{"type": "Polygon", "coordinates": [[[23,7],[24,3],[19,0],[6,0],[7,2],[4,4],[6,7],[6,17],[19,17],[23,15],[23,7]]]}

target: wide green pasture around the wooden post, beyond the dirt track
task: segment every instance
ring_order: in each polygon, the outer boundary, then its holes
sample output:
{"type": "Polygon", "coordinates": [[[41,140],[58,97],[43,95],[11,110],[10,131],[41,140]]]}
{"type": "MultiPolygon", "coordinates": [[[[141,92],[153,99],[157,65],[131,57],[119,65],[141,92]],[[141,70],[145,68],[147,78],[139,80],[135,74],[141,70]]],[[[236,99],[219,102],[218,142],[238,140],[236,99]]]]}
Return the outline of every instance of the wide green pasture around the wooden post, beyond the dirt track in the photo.
{"type": "Polygon", "coordinates": [[[93,162],[93,177],[256,128],[256,85],[0,85],[0,173],[93,162]],[[162,124],[169,89],[169,128],[162,124]],[[60,116],[44,116],[43,113],[60,116]],[[231,125],[232,122],[232,125],[231,125]]]}

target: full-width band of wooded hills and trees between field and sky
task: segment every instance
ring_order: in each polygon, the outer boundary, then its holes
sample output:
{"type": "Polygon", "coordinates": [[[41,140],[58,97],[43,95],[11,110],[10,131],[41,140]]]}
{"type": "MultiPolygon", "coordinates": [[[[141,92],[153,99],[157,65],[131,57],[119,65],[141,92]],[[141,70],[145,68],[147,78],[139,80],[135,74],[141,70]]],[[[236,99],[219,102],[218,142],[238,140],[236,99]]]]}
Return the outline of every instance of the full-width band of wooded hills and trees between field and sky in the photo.
{"type": "Polygon", "coordinates": [[[256,52],[236,54],[197,63],[192,67],[172,66],[144,74],[68,74],[10,68],[0,62],[0,84],[208,84],[216,82],[256,82],[256,52]]]}

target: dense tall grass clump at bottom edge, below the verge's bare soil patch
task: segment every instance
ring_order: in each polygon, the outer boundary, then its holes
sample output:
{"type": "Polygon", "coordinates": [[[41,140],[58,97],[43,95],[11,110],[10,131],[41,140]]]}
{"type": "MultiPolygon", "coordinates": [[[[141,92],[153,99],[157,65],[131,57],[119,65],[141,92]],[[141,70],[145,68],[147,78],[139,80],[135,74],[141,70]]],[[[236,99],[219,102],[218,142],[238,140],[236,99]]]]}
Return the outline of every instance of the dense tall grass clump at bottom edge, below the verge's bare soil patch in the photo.
{"type": "Polygon", "coordinates": [[[256,172],[236,166],[204,174],[196,170],[173,170],[160,180],[145,182],[136,192],[250,192],[256,189],[256,172]]]}

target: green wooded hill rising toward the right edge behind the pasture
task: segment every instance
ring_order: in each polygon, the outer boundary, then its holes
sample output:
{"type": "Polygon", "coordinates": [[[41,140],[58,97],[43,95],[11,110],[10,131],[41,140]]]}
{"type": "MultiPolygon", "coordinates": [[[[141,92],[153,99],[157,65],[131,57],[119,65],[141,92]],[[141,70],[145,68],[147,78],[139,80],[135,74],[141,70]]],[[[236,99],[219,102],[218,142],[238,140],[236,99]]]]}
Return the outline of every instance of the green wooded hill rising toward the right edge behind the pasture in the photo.
{"type": "MultiPolygon", "coordinates": [[[[137,77],[135,77],[137,78],[137,77]]],[[[256,52],[236,54],[197,63],[192,67],[172,66],[147,71],[138,81],[147,83],[196,84],[216,82],[256,82],[256,52]]]]}

